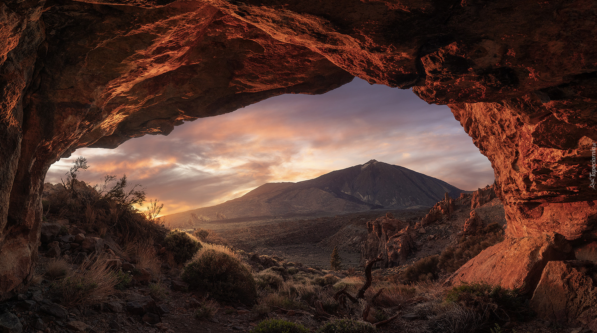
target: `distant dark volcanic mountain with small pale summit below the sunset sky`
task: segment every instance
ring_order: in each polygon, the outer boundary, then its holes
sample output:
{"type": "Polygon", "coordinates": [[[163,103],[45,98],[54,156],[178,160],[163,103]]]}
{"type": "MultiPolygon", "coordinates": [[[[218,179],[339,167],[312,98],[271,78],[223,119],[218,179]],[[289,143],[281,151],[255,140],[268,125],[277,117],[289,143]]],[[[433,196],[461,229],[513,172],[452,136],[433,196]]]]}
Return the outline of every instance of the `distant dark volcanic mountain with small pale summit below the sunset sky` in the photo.
{"type": "MultiPolygon", "coordinates": [[[[242,197],[216,206],[169,214],[165,219],[173,226],[181,226],[192,219],[193,214],[199,219],[216,220],[431,207],[444,198],[445,192],[457,197],[465,191],[405,167],[370,160],[302,182],[265,183],[242,197]]],[[[195,222],[200,221],[195,219],[195,222]]]]}

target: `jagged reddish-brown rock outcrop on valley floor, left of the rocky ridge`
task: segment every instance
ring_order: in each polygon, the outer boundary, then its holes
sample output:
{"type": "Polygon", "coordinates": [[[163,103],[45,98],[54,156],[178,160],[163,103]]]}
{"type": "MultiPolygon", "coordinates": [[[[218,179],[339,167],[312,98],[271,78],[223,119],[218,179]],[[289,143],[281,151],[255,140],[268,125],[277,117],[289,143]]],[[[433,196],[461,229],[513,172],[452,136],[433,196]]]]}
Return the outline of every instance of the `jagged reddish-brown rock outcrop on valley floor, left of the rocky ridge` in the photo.
{"type": "Polygon", "coordinates": [[[367,232],[367,241],[361,246],[361,265],[381,255],[381,266],[397,266],[405,262],[415,247],[413,228],[392,216],[367,222],[367,232]]]}

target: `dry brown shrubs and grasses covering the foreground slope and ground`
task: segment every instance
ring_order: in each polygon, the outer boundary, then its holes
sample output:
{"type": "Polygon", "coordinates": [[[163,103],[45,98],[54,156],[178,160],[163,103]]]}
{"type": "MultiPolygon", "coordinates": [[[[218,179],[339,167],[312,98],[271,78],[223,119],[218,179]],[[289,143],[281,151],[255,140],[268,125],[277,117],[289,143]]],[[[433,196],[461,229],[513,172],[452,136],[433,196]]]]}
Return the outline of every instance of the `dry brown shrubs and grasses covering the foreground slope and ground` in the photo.
{"type": "MultiPolygon", "coordinates": [[[[281,329],[298,333],[474,333],[494,329],[503,333],[510,329],[500,325],[530,315],[524,299],[513,291],[481,284],[452,289],[438,282],[483,248],[500,241],[499,226],[460,235],[454,246],[418,260],[402,273],[371,273],[373,265],[369,269],[324,270],[278,256],[235,250],[209,229],[195,229],[192,234],[168,230],[156,218],[157,202],[152,201],[145,213],[133,208],[143,197],[136,192],[139,186],[131,189],[125,186],[126,179],[121,179],[110,189],[107,184],[115,180],[112,176],[96,188],[76,180],[83,162],[75,165],[63,185],[51,188],[44,199],[45,217],[70,222],[60,228],[59,235],[70,239],[84,231],[87,238],[103,239],[105,245],[82,250],[80,241],[49,239],[59,242],[61,253],[53,259],[42,258],[39,273],[46,280],[39,288],[49,289],[44,297],[72,312],[94,304],[96,310],[106,309],[107,303],[130,304],[131,297],[147,297],[142,299],[153,302],[151,309],[156,309],[156,304],[173,309],[170,315],[156,312],[150,316],[150,312],[127,312],[133,310],[125,307],[113,316],[129,324],[128,318],[133,318],[132,326],[127,324],[129,332],[144,331],[143,322],[168,332],[165,323],[173,318],[168,325],[177,327],[184,322],[190,329],[201,320],[201,325],[215,325],[212,332],[220,333],[230,326],[210,320],[226,322],[229,317],[245,318],[238,330],[260,333],[281,329]],[[274,319],[264,320],[267,318],[274,319]]],[[[362,216],[355,214],[354,218],[360,221],[362,216]]],[[[304,225],[321,229],[311,222],[304,225]]],[[[48,242],[42,245],[42,253],[49,250],[48,242]]],[[[330,252],[322,255],[330,258],[330,252]]],[[[60,331],[53,325],[52,329],[60,331]]],[[[107,329],[107,322],[103,325],[107,329]]],[[[190,333],[186,327],[177,330],[190,333]]]]}

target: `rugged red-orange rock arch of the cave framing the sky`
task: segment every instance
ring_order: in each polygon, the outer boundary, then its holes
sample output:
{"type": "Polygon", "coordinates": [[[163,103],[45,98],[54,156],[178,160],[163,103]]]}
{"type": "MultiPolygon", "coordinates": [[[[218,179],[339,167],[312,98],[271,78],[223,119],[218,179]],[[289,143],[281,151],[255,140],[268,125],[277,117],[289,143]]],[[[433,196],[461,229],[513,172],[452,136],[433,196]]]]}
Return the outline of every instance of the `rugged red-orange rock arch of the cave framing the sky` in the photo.
{"type": "Polygon", "coordinates": [[[48,167],[353,76],[448,104],[512,237],[593,239],[594,1],[0,2],[0,298],[35,264],[48,167]]]}

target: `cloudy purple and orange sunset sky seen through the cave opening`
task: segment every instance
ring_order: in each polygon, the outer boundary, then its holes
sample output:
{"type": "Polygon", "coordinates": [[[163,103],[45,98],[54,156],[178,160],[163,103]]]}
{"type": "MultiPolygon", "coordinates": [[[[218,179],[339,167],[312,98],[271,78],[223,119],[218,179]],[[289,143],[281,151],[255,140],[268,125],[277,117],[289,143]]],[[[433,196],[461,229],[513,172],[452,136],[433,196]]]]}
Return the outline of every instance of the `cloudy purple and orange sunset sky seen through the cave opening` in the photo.
{"type": "Polygon", "coordinates": [[[297,182],[377,161],[407,167],[474,190],[494,181],[445,105],[410,90],[355,78],[323,95],[287,94],[232,113],[187,122],[168,136],[146,135],[118,148],[82,148],[50,167],[59,183],[79,156],[94,185],[106,174],[141,183],[163,214],[213,206],[267,182],[297,182]]]}

